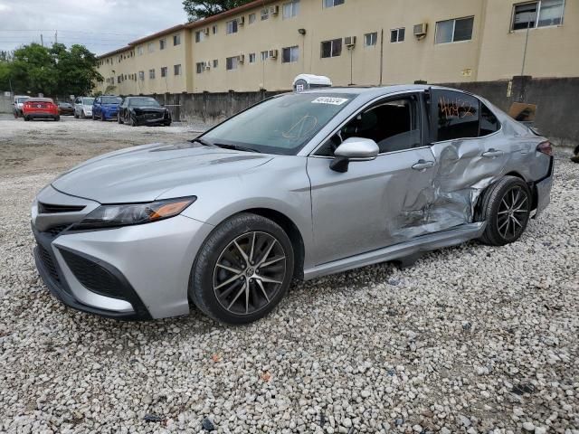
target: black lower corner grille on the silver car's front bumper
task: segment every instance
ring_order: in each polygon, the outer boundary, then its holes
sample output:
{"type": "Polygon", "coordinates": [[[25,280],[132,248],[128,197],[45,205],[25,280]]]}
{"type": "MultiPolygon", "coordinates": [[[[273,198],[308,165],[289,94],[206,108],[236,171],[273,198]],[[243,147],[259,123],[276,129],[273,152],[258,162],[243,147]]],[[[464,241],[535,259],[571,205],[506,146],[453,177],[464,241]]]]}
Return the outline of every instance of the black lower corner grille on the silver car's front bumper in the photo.
{"type": "Polygon", "coordinates": [[[119,293],[123,284],[108,269],[69,250],[61,250],[61,254],[74,277],[84,288],[101,296],[123,298],[119,293]]]}

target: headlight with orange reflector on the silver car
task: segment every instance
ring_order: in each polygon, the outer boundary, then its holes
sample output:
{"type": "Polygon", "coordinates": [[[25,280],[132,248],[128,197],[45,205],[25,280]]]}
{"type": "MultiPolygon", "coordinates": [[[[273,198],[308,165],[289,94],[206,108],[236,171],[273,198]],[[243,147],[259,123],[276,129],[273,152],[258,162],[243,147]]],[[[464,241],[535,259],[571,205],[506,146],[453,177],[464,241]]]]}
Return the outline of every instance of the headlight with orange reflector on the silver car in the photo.
{"type": "Polygon", "coordinates": [[[101,205],[90,212],[84,220],[72,229],[99,229],[143,224],[175,217],[194,203],[197,198],[180,197],[151,203],[127,203],[119,205],[101,205]]]}

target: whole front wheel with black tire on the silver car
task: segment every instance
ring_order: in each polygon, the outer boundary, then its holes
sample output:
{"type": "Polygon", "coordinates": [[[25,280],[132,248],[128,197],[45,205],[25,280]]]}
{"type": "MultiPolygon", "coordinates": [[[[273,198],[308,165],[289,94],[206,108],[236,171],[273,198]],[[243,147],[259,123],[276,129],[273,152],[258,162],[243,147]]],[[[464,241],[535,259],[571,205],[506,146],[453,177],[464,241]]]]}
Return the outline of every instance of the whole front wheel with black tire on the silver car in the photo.
{"type": "Polygon", "coordinates": [[[261,215],[241,213],[217,226],[204,241],[191,270],[189,297],[216,321],[248,324],[280,303],[293,271],[293,248],[280,225],[261,215]],[[240,249],[253,260],[243,259],[240,249]]]}

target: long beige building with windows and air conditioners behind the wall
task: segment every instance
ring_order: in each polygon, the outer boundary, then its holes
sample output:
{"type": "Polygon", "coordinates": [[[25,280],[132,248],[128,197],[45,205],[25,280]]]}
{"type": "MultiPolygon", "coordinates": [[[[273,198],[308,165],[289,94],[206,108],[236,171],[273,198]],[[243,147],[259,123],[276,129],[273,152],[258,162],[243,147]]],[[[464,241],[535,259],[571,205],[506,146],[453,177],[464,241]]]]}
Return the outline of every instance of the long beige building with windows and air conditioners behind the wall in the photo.
{"type": "Polygon", "coordinates": [[[97,90],[289,90],[299,73],[338,86],[576,77],[577,41],[578,0],[257,0],[100,56],[97,90]]]}

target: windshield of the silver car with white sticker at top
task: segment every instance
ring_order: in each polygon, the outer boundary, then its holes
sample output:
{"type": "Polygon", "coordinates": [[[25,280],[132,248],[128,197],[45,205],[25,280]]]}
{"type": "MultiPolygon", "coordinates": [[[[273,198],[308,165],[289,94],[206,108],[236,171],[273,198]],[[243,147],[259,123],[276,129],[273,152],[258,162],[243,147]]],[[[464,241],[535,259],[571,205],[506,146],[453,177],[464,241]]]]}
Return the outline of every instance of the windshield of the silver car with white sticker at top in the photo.
{"type": "Polygon", "coordinates": [[[204,141],[259,152],[296,155],[343,110],[352,93],[291,93],[263,101],[204,134],[204,141]]]}

